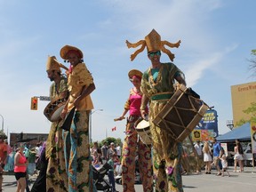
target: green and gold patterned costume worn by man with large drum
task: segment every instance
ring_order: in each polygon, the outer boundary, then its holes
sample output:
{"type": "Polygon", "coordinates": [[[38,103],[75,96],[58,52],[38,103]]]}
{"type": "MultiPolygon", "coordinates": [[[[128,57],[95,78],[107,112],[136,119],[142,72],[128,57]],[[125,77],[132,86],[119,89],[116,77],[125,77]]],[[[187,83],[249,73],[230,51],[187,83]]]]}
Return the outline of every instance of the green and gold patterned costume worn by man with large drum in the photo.
{"type": "Polygon", "coordinates": [[[149,99],[149,123],[153,140],[156,191],[183,191],[180,175],[182,146],[168,132],[152,123],[174,92],[175,76],[182,71],[172,63],[161,63],[159,70],[148,68],[141,80],[141,91],[149,99]]]}

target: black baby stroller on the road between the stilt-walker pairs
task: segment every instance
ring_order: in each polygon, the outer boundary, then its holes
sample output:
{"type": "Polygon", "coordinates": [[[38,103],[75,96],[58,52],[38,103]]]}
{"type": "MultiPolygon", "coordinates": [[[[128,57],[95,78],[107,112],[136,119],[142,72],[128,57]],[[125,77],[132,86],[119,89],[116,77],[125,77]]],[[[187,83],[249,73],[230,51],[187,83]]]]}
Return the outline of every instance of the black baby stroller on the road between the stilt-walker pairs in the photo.
{"type": "Polygon", "coordinates": [[[93,180],[97,190],[101,191],[111,191],[111,185],[108,180],[104,180],[104,177],[108,175],[108,170],[111,169],[111,165],[106,163],[100,166],[99,169],[96,169],[92,166],[93,180]]]}

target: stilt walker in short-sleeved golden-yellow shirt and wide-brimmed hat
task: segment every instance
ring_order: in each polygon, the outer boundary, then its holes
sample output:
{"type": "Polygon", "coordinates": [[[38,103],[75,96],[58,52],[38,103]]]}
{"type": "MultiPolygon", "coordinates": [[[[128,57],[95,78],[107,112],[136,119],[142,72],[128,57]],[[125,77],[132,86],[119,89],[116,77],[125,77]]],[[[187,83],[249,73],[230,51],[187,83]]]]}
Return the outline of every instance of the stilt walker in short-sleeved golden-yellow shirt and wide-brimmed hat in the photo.
{"type": "Polygon", "coordinates": [[[76,108],[69,127],[69,135],[65,142],[66,166],[68,172],[68,192],[96,191],[92,178],[92,157],[89,144],[89,116],[93,108],[90,94],[95,90],[92,74],[83,62],[83,52],[78,48],[65,45],[60,50],[60,57],[68,60],[67,105],[62,110],[61,117],[76,108]]]}

